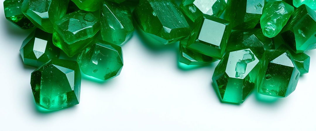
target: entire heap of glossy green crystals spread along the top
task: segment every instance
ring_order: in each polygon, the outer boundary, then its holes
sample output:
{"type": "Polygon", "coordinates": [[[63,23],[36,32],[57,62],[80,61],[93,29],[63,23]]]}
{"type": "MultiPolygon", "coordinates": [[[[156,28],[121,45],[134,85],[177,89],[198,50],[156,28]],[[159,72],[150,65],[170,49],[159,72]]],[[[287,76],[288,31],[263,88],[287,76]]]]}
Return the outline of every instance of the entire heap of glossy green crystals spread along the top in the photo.
{"type": "Polygon", "coordinates": [[[36,104],[49,110],[79,103],[81,71],[101,80],[120,74],[120,45],[133,23],[161,45],[180,41],[181,64],[220,60],[212,79],[222,102],[243,103],[254,88],[286,97],[308,73],[304,52],[316,48],[313,9],[314,0],[4,1],[9,21],[36,27],[20,53],[24,64],[37,67],[31,74],[36,104]],[[59,59],[60,50],[76,61],[59,59]]]}

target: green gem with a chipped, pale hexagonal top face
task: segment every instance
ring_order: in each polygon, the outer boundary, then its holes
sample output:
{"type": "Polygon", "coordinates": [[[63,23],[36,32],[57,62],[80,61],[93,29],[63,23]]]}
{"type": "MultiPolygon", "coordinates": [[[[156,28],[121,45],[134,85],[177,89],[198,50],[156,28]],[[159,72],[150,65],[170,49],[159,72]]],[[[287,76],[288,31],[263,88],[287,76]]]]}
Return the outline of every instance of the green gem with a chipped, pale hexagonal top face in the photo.
{"type": "Polygon", "coordinates": [[[226,53],[212,77],[221,100],[243,103],[255,86],[258,69],[259,59],[251,49],[226,53]]]}

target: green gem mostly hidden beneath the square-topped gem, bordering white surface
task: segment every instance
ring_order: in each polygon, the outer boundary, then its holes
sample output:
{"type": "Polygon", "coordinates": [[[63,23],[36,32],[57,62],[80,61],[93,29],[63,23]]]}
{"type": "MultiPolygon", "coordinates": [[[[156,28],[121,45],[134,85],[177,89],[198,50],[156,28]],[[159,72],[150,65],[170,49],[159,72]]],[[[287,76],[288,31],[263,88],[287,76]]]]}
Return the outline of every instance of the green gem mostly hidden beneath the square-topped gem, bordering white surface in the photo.
{"type": "Polygon", "coordinates": [[[217,59],[191,51],[186,48],[187,39],[181,40],[179,45],[180,58],[179,62],[186,65],[202,65],[217,61],[217,59]]]}

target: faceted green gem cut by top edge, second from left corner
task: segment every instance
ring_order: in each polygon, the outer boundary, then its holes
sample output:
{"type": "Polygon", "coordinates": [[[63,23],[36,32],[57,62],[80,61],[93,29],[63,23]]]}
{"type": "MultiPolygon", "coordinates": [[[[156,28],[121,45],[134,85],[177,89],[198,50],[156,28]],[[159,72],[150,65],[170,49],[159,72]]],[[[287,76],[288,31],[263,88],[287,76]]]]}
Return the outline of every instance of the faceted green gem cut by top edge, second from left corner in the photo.
{"type": "Polygon", "coordinates": [[[53,32],[53,24],[67,12],[69,0],[24,0],[22,12],[38,28],[53,32]]]}

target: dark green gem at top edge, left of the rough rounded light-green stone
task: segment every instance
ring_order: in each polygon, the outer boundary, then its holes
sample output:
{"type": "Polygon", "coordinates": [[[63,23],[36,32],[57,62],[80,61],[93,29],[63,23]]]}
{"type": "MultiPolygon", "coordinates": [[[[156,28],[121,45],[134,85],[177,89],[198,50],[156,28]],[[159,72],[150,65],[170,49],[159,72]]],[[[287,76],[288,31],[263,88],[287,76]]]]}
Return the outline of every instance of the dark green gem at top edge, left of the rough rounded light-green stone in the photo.
{"type": "Polygon", "coordinates": [[[252,29],[259,22],[264,0],[228,0],[225,18],[234,30],[252,29]]]}

